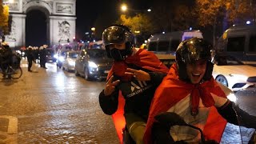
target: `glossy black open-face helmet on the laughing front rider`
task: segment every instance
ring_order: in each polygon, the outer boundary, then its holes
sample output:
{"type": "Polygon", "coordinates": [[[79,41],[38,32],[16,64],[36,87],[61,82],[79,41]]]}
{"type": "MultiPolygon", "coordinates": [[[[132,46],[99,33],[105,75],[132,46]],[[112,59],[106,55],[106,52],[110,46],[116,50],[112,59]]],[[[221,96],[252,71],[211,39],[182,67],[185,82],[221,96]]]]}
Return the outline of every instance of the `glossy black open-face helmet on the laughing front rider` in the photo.
{"type": "Polygon", "coordinates": [[[183,41],[176,50],[176,62],[178,65],[178,75],[183,81],[190,82],[186,74],[186,63],[193,63],[197,60],[206,60],[206,74],[202,81],[210,80],[214,68],[212,62],[212,50],[210,42],[206,42],[203,38],[190,38],[183,41]]]}

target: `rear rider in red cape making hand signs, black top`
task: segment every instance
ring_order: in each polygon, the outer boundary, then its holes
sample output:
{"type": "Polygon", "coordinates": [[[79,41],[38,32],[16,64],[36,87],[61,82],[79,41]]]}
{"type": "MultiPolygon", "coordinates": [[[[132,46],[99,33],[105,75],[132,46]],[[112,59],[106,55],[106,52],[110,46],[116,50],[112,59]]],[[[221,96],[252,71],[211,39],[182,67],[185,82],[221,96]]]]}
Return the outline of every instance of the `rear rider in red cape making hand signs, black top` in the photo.
{"type": "Polygon", "coordinates": [[[152,52],[134,48],[134,36],[126,26],[106,28],[102,41],[114,63],[106,87],[99,94],[100,106],[105,114],[115,118],[118,105],[122,106],[124,98],[126,128],[134,142],[142,143],[154,90],[166,76],[168,68],[152,52]]]}

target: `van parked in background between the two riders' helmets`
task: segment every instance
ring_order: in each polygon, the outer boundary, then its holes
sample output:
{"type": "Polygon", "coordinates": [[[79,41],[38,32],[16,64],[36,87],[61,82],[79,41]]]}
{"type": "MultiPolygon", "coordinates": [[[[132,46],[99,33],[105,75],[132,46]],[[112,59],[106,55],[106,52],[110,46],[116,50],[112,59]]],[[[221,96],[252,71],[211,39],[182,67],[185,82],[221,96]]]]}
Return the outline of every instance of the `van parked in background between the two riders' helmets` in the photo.
{"type": "Polygon", "coordinates": [[[183,40],[199,37],[202,38],[200,30],[174,31],[166,34],[154,34],[148,39],[146,48],[155,54],[172,54],[183,40]]]}

